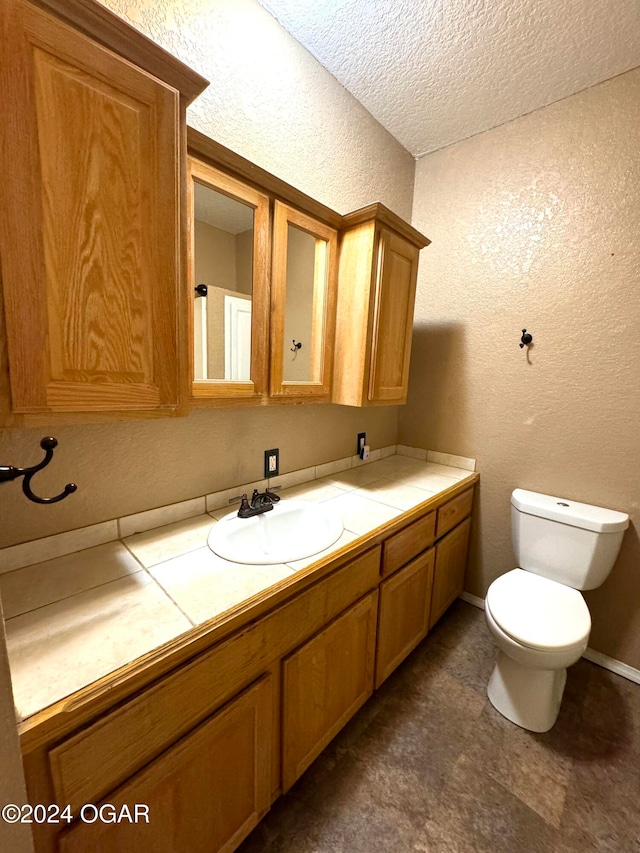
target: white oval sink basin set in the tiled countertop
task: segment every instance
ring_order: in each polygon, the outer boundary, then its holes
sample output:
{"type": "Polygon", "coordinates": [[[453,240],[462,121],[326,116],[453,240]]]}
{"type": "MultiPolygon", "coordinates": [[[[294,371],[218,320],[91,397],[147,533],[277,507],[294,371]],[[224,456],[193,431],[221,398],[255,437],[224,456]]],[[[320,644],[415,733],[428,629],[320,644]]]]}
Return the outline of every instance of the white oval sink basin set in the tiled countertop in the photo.
{"type": "Polygon", "coordinates": [[[225,560],[266,566],[318,554],[343,530],[342,519],[327,506],[282,500],[251,518],[238,518],[235,512],[226,515],[212,527],[207,542],[225,560]]]}

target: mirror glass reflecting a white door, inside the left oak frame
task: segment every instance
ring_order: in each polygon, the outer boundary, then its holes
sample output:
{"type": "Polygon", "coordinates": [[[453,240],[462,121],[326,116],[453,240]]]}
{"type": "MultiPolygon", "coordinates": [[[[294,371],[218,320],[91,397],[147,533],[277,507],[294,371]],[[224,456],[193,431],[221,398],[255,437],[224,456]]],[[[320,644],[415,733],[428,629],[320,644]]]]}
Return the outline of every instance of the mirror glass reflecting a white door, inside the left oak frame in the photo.
{"type": "Polygon", "coordinates": [[[194,379],[250,381],[254,209],[193,185],[194,379]]]}

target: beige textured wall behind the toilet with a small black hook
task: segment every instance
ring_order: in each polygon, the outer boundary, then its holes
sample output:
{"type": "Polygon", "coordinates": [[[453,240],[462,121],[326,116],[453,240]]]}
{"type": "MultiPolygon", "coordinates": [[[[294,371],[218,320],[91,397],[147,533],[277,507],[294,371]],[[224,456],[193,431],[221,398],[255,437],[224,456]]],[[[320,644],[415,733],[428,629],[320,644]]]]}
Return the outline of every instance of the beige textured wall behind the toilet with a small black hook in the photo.
{"type": "Polygon", "coordinates": [[[400,441],[478,459],[467,578],[514,566],[516,487],[631,514],[590,645],[640,668],[640,69],[418,161],[400,441]],[[527,360],[523,327],[534,337],[527,360]]]}

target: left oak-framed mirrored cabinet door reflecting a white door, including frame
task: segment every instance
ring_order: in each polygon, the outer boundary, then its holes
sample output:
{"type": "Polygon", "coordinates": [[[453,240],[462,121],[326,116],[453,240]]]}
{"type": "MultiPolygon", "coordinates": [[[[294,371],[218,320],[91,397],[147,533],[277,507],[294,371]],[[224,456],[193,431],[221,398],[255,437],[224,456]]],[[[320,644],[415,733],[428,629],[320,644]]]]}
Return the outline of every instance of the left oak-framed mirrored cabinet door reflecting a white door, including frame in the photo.
{"type": "Polygon", "coordinates": [[[195,398],[266,390],[269,199],[189,158],[191,378],[195,398]]]}

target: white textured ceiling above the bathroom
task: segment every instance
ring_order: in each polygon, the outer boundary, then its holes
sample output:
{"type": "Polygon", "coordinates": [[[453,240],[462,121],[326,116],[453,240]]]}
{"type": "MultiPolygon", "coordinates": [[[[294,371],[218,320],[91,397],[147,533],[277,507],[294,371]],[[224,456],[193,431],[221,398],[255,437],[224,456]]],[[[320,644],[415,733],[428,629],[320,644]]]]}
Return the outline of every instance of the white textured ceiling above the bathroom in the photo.
{"type": "Polygon", "coordinates": [[[415,157],[640,65],[639,0],[260,0],[415,157]]]}

